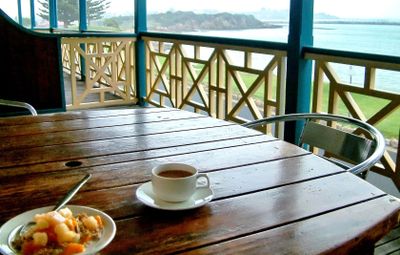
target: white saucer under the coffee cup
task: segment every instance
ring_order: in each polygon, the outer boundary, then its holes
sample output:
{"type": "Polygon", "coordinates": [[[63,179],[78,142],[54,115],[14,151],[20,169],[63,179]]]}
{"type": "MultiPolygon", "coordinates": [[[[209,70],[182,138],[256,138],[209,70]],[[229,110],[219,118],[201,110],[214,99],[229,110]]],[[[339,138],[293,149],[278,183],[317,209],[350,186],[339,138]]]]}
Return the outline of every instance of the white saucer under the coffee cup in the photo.
{"type": "Polygon", "coordinates": [[[136,190],[136,197],[147,206],[161,210],[178,211],[203,206],[211,201],[214,197],[214,193],[210,188],[199,188],[189,200],[179,203],[170,203],[157,198],[154,195],[151,182],[146,182],[140,185],[136,190]]]}

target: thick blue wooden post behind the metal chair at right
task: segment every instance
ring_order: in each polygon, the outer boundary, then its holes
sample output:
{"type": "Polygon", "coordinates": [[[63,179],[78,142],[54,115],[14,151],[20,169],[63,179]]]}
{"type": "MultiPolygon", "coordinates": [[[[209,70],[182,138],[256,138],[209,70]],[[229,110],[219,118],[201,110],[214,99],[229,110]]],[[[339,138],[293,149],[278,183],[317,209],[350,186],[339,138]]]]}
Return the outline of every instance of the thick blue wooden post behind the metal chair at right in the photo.
{"type": "MultiPolygon", "coordinates": [[[[313,6],[314,1],[310,0],[290,1],[286,113],[310,111],[312,62],[304,59],[303,51],[305,46],[313,45],[313,6]]],[[[300,126],[295,127],[294,123],[288,123],[285,140],[295,143],[300,133],[300,126]]]]}

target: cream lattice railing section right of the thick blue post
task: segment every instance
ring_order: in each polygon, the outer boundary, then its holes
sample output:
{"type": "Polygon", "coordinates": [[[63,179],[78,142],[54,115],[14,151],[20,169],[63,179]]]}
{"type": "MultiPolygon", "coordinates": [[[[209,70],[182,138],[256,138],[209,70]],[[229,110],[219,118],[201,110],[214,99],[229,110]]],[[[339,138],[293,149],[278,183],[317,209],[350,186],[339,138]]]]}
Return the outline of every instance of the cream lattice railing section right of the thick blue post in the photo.
{"type": "MultiPolygon", "coordinates": [[[[357,54],[351,56],[348,53],[320,49],[308,49],[305,57],[315,61],[312,112],[347,114],[377,126],[378,129],[380,123],[392,119],[388,123],[389,126],[393,130],[397,130],[395,132],[399,132],[400,123],[394,117],[400,116],[400,94],[393,91],[384,91],[376,86],[377,71],[400,72],[400,63],[398,61],[385,62],[383,61],[384,58],[376,55],[370,55],[368,58],[361,56],[361,54],[360,56],[357,56],[357,54]],[[354,83],[344,81],[335,71],[333,67],[335,64],[361,68],[364,71],[364,79],[360,82],[353,81],[354,83]],[[324,93],[324,90],[327,92],[324,93]],[[368,113],[368,116],[365,111],[365,102],[364,105],[359,103],[366,98],[370,98],[371,105],[367,105],[369,110],[379,107],[368,113]],[[376,102],[380,102],[380,104],[376,102]]],[[[400,81],[397,81],[397,86],[400,86],[400,81]]],[[[386,138],[397,139],[398,137],[397,134],[394,134],[394,137],[386,138]]],[[[399,145],[397,145],[397,155],[399,155],[399,145]]],[[[376,165],[371,170],[390,177],[396,186],[400,188],[400,166],[397,165],[396,168],[394,160],[387,151],[381,159],[381,163],[381,165],[376,165]]]]}

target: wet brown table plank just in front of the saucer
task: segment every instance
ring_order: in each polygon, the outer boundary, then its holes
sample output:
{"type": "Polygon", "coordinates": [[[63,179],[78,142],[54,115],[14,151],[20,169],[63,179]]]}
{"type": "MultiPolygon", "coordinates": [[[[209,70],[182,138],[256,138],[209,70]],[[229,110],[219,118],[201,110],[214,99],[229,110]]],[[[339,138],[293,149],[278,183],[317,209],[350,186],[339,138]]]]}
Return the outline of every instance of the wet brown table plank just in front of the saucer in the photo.
{"type": "Polygon", "coordinates": [[[217,200],[179,213],[149,209],[117,221],[117,235],[101,254],[163,254],[268,230],[384,196],[343,173],[276,189],[217,200]],[[343,185],[337,185],[342,183],[343,185]]]}

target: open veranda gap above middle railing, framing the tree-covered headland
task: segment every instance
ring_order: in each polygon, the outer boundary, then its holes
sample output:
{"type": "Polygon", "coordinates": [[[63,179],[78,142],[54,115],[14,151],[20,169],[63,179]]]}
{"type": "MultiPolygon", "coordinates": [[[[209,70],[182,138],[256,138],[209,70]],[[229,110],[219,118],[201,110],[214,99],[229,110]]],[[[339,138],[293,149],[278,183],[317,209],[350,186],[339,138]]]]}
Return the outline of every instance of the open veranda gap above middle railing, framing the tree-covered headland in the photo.
{"type": "Polygon", "coordinates": [[[147,0],[148,30],[287,42],[289,0],[147,0]]]}

